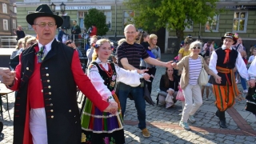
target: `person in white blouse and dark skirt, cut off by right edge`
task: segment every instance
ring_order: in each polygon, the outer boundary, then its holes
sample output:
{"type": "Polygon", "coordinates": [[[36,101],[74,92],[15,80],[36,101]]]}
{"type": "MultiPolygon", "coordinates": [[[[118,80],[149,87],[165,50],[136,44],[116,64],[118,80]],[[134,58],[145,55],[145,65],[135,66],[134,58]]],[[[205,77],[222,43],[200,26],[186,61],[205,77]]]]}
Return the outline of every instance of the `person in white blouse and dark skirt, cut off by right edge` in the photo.
{"type": "Polygon", "coordinates": [[[253,62],[251,62],[250,67],[248,69],[248,74],[250,77],[250,88],[248,90],[248,94],[246,95],[246,110],[250,111],[254,115],[256,115],[256,58],[254,58],[253,62]]]}

